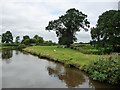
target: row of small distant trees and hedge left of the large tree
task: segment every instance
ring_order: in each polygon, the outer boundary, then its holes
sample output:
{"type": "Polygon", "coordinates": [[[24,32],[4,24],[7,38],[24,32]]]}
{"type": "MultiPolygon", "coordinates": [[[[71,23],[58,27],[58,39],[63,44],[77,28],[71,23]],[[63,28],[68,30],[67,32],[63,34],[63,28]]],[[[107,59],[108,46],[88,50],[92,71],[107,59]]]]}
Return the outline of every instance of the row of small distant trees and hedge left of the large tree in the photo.
{"type": "Polygon", "coordinates": [[[45,41],[43,37],[35,35],[33,38],[30,38],[28,35],[23,36],[23,39],[20,41],[20,36],[16,36],[15,42],[13,42],[13,35],[12,32],[6,31],[1,35],[2,43],[6,44],[24,44],[24,45],[55,45],[55,42],[51,40],[45,41]]]}

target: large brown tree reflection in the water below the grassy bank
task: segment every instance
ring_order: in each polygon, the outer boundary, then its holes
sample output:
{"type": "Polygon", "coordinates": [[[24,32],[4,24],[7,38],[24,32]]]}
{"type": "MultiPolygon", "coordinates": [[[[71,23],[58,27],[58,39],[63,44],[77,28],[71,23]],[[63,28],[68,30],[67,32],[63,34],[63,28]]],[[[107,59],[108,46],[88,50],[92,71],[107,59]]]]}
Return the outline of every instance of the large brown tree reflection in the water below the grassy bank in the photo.
{"type": "Polygon", "coordinates": [[[75,69],[63,67],[60,64],[56,64],[55,67],[49,66],[47,68],[49,75],[58,77],[66,83],[67,87],[78,87],[85,82],[83,74],[75,69]]]}

